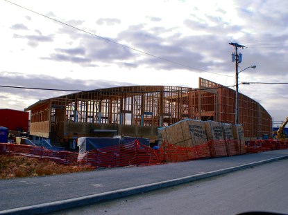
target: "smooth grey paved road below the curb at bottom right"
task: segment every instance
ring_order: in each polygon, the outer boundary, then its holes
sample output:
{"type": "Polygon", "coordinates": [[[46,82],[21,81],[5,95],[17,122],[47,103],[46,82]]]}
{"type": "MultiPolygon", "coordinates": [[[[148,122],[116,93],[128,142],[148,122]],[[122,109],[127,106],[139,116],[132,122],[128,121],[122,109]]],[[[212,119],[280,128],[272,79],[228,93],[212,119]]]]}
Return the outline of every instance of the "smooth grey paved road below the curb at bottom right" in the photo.
{"type": "Polygon", "coordinates": [[[288,160],[110,200],[53,215],[221,214],[248,211],[288,213],[288,160]]]}

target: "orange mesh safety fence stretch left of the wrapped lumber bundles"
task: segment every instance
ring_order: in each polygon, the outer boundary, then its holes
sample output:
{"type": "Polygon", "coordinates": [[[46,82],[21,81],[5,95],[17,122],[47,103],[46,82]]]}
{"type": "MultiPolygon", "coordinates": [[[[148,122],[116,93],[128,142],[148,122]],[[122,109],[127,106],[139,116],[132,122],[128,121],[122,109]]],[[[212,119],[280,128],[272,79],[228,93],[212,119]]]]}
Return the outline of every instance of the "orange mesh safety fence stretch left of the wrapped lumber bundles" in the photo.
{"type": "Polygon", "coordinates": [[[95,168],[160,164],[158,151],[141,144],[138,140],[128,144],[94,149],[82,154],[70,151],[51,151],[44,147],[24,144],[1,143],[0,154],[49,159],[64,165],[91,165],[95,168]]]}

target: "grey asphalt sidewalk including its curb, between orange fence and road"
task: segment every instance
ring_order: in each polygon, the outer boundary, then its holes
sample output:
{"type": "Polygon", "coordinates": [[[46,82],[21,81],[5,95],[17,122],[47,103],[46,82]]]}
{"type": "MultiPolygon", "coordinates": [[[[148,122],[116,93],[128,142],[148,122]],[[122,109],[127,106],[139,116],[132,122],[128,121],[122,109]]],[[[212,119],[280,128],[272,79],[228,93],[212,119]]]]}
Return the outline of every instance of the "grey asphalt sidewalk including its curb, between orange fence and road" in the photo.
{"type": "Polygon", "coordinates": [[[0,180],[0,214],[44,214],[188,183],[285,158],[288,158],[288,149],[150,167],[0,180]]]}

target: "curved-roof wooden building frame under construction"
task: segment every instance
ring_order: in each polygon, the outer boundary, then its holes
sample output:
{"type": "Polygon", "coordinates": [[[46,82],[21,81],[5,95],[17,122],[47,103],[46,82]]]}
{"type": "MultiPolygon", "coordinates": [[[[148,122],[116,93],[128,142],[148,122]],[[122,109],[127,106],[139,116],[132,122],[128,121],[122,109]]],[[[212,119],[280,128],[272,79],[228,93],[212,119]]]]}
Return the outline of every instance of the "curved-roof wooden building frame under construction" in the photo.
{"type": "MultiPolygon", "coordinates": [[[[69,143],[73,139],[128,135],[158,138],[158,127],[186,118],[235,123],[235,91],[199,78],[199,88],[120,86],[41,100],[31,111],[35,139],[69,143]]],[[[272,119],[255,100],[239,93],[239,124],[248,139],[272,135],[272,119]]]]}

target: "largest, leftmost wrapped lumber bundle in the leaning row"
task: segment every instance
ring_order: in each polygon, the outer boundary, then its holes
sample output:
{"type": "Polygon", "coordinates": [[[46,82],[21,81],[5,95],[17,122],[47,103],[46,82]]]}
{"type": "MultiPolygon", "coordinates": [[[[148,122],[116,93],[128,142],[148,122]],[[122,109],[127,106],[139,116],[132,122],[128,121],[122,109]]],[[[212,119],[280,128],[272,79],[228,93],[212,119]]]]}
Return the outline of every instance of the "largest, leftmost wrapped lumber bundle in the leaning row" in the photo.
{"type": "MultiPolygon", "coordinates": [[[[158,129],[162,142],[171,144],[173,147],[186,148],[185,156],[187,160],[195,158],[209,157],[209,149],[202,149],[207,143],[205,124],[198,120],[182,120],[168,127],[158,129]],[[200,147],[203,145],[203,147],[200,147]],[[195,150],[195,146],[199,150],[195,150]]],[[[167,151],[167,153],[169,153],[167,151]]],[[[175,153],[172,152],[171,153],[175,153]]],[[[180,158],[178,158],[180,159],[180,158]]],[[[173,159],[172,159],[173,160],[173,159]]]]}

